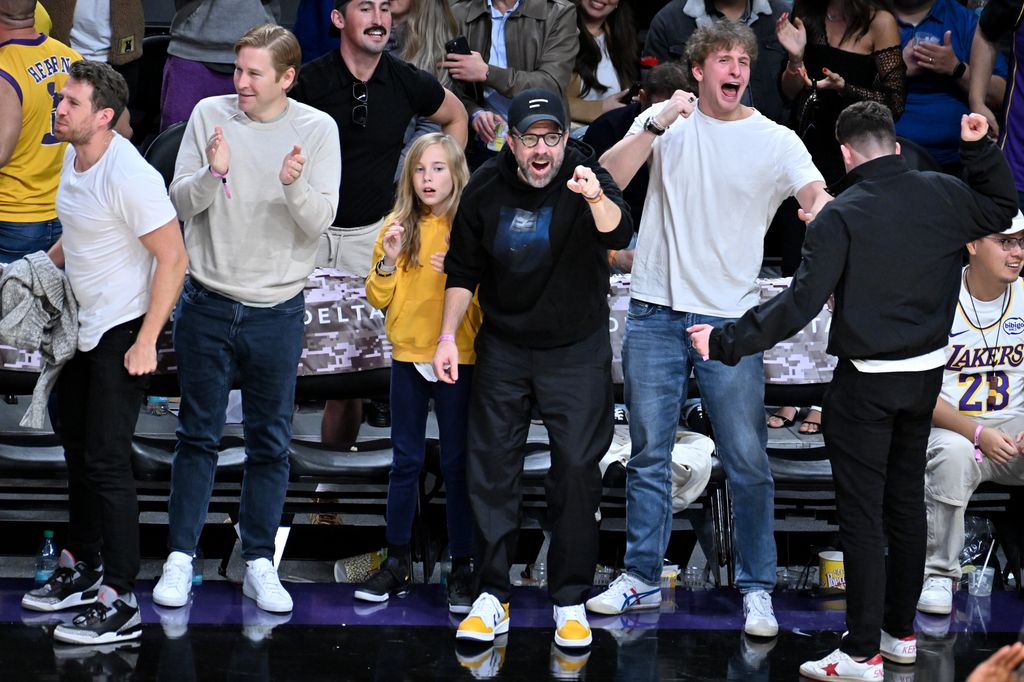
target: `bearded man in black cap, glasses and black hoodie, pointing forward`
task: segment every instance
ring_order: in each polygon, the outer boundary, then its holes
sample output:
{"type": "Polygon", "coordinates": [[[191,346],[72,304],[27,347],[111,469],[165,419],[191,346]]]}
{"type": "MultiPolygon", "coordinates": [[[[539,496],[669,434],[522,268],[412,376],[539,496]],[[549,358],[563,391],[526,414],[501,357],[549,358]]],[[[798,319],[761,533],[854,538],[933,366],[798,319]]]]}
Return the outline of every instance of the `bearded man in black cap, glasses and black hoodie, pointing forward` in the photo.
{"type": "Polygon", "coordinates": [[[589,147],[568,144],[558,95],[512,100],[508,146],[473,174],[444,259],[447,284],[434,371],[459,378],[455,330],[479,286],[467,483],[477,525],[477,598],[460,640],[508,632],[509,567],[531,408],[551,442],[545,481],[555,643],[591,642],[584,600],[594,578],[598,461],[611,443],[608,249],[629,244],[622,193],[589,147]]]}

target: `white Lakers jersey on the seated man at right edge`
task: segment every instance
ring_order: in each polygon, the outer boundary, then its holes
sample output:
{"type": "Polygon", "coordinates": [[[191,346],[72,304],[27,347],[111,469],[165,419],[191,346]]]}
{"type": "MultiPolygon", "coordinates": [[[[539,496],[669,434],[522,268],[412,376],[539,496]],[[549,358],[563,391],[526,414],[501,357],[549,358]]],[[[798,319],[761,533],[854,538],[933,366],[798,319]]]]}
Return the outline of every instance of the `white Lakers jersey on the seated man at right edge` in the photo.
{"type": "Polygon", "coordinates": [[[1024,284],[1016,280],[993,301],[961,284],[949,330],[942,399],[973,419],[1024,414],[1024,284]]]}

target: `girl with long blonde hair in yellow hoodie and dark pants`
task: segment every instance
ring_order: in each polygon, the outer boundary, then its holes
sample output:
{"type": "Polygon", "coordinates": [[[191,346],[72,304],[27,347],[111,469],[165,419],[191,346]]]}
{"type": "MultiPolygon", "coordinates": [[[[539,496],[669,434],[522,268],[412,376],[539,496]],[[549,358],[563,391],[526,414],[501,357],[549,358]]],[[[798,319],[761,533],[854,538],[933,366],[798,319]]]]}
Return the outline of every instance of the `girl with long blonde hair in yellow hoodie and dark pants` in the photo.
{"type": "Polygon", "coordinates": [[[447,491],[452,573],[449,608],[468,613],[473,604],[473,516],[466,492],[466,421],[472,381],[473,340],[480,327],[475,298],[456,334],[459,381],[438,382],[430,361],[437,347],[444,303],[444,254],[452,220],[469,179],[458,142],[441,133],[420,137],[398,178],[394,209],[374,247],[367,300],[385,312],[391,341],[391,444],[387,492],[388,558],[355,590],[355,598],[386,601],[411,584],[410,540],[426,445],[428,403],[440,437],[441,474],[447,491]],[[462,363],[465,363],[463,365],[462,363]]]}

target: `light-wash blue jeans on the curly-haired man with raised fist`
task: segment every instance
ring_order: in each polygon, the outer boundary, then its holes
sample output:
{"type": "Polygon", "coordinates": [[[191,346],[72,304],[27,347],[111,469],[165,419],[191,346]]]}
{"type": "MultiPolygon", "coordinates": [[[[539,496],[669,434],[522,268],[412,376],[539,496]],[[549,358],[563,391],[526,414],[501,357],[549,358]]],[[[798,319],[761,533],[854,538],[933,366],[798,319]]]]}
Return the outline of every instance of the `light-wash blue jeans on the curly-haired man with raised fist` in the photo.
{"type": "Polygon", "coordinates": [[[750,355],[736,367],[703,361],[686,333],[691,325],[720,327],[727,322],[731,319],[630,301],[623,344],[633,440],[626,479],[626,569],[649,584],[660,582],[672,534],[670,463],[692,368],[729,480],[736,587],[746,593],[775,586],[775,483],[765,451],[762,356],[750,355]]]}

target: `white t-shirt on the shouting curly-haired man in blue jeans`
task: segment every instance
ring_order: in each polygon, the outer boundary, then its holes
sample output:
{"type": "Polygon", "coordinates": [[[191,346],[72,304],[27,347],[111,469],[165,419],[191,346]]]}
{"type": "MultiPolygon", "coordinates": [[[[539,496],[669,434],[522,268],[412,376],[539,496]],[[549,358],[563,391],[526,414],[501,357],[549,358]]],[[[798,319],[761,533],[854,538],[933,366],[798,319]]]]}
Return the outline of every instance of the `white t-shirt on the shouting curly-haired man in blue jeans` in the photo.
{"type": "MultiPolygon", "coordinates": [[[[633,122],[639,133],[660,111],[633,122]]],[[[779,205],[823,181],[800,138],[756,110],[721,121],[699,109],[654,140],[633,262],[634,298],[719,317],[758,304],[764,236],[779,205]]]]}

